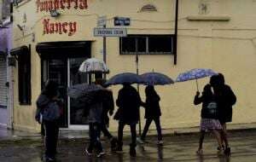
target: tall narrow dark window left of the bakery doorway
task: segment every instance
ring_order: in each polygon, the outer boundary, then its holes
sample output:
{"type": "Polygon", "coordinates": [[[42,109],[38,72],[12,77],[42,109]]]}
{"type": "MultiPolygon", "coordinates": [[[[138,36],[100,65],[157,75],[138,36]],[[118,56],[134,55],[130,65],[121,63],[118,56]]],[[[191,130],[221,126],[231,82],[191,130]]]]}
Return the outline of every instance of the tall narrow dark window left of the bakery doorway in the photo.
{"type": "Polygon", "coordinates": [[[20,105],[31,104],[31,58],[29,49],[20,49],[19,68],[19,101],[20,105]]]}

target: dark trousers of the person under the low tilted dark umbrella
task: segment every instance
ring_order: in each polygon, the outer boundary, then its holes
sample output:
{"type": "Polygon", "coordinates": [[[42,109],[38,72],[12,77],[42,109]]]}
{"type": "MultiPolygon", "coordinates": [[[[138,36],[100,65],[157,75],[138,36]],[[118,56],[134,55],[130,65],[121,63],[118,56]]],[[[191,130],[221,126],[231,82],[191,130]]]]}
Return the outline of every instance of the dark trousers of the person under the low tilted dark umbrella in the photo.
{"type": "Polygon", "coordinates": [[[93,148],[96,148],[97,152],[102,152],[102,143],[100,140],[101,137],[101,124],[90,123],[89,124],[89,136],[90,144],[87,148],[89,152],[92,152],[93,148]]]}

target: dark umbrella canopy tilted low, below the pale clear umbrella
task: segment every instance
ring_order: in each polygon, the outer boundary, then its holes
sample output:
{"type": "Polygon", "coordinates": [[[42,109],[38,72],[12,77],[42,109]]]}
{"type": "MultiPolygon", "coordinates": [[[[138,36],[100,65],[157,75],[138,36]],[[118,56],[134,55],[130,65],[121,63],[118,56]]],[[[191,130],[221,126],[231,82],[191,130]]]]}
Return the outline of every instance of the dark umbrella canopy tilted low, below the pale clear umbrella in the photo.
{"type": "Polygon", "coordinates": [[[90,92],[105,90],[102,86],[96,84],[76,84],[67,88],[67,95],[72,98],[83,97],[89,95],[90,92]]]}

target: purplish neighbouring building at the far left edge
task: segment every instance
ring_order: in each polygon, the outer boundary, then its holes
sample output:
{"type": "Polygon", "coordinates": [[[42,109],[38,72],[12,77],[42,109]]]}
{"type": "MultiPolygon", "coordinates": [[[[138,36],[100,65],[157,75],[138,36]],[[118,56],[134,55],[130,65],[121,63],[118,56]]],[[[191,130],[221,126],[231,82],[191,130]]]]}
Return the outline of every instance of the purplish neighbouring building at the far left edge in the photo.
{"type": "Polygon", "coordinates": [[[10,1],[0,1],[0,126],[10,126],[8,55],[12,49],[10,1]]]}

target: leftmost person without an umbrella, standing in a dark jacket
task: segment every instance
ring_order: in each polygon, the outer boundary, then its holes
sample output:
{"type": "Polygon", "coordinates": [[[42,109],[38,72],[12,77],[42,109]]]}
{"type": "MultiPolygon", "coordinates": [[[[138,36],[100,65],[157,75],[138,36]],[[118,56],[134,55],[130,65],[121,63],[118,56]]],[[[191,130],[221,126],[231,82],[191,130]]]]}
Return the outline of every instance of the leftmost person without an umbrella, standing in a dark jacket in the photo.
{"type": "Polygon", "coordinates": [[[44,158],[46,162],[55,161],[59,136],[58,119],[61,116],[61,106],[63,105],[57,95],[58,84],[49,80],[37,100],[36,120],[44,124],[44,158]]]}

